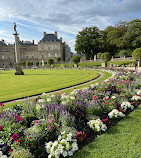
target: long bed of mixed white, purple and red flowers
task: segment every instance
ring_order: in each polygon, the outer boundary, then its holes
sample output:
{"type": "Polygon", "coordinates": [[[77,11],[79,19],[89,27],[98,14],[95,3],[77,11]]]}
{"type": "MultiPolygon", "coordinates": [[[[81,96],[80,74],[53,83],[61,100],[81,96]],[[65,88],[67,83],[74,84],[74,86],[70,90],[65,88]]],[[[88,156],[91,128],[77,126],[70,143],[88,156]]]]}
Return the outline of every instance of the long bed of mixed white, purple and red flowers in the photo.
{"type": "Polygon", "coordinates": [[[115,71],[109,80],[70,94],[44,93],[4,110],[0,114],[0,157],[72,156],[114,126],[141,100],[138,74],[115,71]]]}

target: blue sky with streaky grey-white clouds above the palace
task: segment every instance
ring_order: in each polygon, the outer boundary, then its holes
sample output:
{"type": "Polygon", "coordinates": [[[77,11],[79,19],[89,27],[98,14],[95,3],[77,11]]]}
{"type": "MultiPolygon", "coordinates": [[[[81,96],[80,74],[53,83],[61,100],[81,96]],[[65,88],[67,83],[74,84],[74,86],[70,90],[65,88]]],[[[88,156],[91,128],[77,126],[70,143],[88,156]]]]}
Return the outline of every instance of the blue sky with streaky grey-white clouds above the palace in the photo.
{"type": "Polygon", "coordinates": [[[0,39],[14,43],[14,22],[20,40],[38,43],[43,32],[58,32],[75,52],[75,40],[85,27],[141,19],[141,0],[0,0],[0,39]]]}

